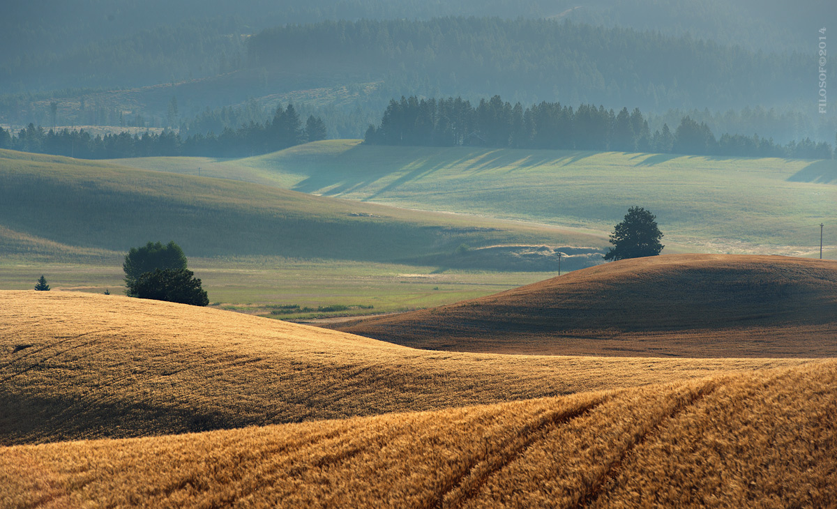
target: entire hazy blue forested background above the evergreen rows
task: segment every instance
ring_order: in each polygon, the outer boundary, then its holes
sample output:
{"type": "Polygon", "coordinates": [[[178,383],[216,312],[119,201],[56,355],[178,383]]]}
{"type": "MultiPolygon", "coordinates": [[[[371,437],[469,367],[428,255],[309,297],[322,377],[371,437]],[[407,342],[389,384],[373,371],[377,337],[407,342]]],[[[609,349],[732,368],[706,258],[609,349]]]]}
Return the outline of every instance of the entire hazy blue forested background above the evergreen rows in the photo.
{"type": "Polygon", "coordinates": [[[328,137],[360,138],[402,95],[501,95],[639,108],[652,133],[689,115],[716,136],[834,145],[817,23],[837,6],[804,4],[15,2],[0,20],[0,125],[218,135],[292,103],[328,137]]]}

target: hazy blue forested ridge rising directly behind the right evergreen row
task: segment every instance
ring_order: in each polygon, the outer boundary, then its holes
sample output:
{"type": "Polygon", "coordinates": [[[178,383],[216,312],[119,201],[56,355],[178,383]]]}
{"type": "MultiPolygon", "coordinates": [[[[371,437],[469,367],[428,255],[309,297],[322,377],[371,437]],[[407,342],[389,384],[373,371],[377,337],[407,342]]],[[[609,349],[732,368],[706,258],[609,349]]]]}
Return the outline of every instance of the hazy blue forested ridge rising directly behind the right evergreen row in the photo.
{"type": "Polygon", "coordinates": [[[809,96],[814,62],[691,37],[524,18],[290,25],[255,34],[247,49],[251,67],[328,68],[346,77],[386,76],[404,90],[426,84],[442,94],[630,102],[646,111],[787,105],[809,96]]]}

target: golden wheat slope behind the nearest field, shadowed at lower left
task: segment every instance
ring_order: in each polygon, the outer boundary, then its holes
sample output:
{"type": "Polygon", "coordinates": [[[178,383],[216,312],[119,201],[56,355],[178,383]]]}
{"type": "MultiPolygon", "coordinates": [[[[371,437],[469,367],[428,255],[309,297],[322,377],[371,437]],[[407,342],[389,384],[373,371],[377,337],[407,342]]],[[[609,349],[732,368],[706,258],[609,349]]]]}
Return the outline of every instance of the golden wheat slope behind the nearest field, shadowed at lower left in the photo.
{"type": "Polygon", "coordinates": [[[449,409],[803,362],[429,352],[161,301],[0,291],[0,445],[449,409]]]}

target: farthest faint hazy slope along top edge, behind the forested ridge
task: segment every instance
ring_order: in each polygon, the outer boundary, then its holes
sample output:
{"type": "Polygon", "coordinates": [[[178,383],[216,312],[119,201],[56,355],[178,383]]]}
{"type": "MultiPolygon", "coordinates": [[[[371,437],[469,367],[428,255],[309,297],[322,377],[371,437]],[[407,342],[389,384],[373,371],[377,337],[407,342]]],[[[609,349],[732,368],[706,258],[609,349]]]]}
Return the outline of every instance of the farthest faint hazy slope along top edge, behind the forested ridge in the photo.
{"type": "Polygon", "coordinates": [[[126,87],[149,79],[165,83],[213,75],[236,63],[240,41],[235,39],[289,23],[447,16],[572,19],[786,53],[809,49],[812,15],[837,18],[831,0],[806,0],[804,7],[784,0],[600,0],[586,5],[574,0],[9,0],[4,7],[0,88],[24,87],[16,91],[126,87]]]}

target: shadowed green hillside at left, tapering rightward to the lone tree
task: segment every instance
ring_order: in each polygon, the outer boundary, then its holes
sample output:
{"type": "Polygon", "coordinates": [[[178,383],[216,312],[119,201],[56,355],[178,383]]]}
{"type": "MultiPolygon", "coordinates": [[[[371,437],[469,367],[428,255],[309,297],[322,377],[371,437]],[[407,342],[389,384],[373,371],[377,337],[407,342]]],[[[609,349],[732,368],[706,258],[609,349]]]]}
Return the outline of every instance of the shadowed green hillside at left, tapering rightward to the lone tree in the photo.
{"type": "Polygon", "coordinates": [[[76,257],[176,240],[190,256],[442,262],[460,244],[604,244],[584,234],[0,151],[0,252],[76,257]]]}

